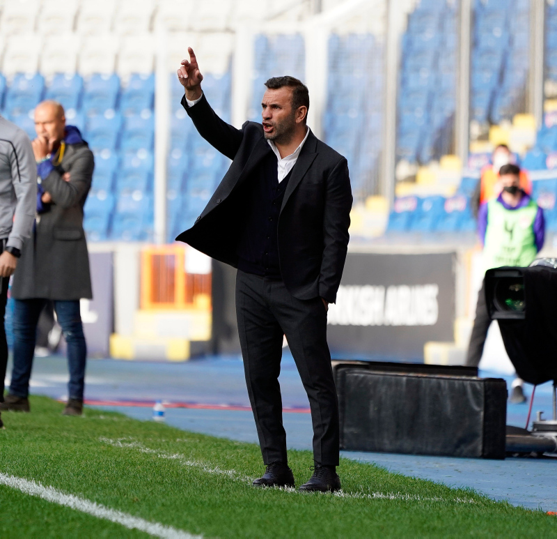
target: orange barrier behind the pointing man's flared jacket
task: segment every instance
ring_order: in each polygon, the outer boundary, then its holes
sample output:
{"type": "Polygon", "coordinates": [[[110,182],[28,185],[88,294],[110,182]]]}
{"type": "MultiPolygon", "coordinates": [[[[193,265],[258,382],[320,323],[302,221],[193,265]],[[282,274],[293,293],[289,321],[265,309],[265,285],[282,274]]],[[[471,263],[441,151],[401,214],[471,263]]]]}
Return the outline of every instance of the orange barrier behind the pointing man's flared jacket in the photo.
{"type": "Polygon", "coordinates": [[[186,249],[157,245],[141,252],[141,309],[210,310],[211,274],[186,273],[186,249]]]}

